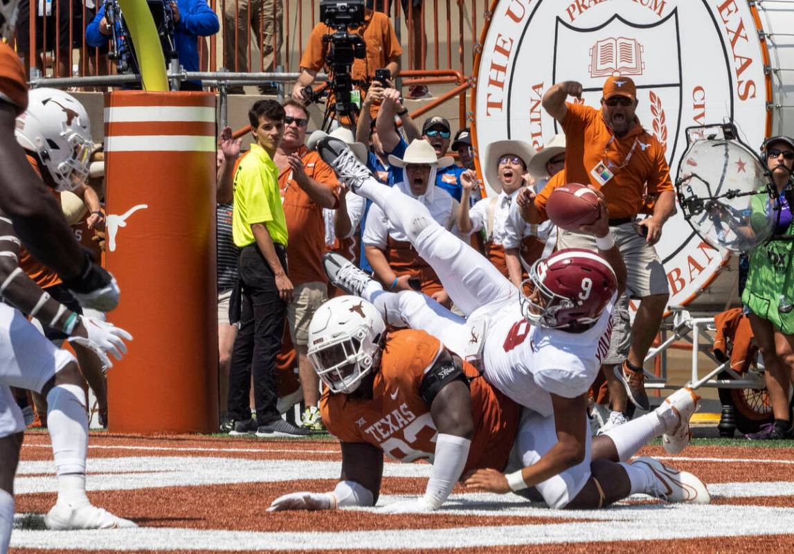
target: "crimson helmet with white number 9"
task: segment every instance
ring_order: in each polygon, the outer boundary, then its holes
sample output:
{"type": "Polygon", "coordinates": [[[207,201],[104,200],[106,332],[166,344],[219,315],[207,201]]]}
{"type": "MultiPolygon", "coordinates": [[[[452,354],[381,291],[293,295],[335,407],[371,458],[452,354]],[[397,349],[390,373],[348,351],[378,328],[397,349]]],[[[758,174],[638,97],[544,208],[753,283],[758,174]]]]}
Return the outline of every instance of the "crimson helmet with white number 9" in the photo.
{"type": "Polygon", "coordinates": [[[615,271],[599,254],[580,248],[558,250],[530,268],[520,287],[521,312],[541,327],[589,327],[617,289],[615,271]]]}

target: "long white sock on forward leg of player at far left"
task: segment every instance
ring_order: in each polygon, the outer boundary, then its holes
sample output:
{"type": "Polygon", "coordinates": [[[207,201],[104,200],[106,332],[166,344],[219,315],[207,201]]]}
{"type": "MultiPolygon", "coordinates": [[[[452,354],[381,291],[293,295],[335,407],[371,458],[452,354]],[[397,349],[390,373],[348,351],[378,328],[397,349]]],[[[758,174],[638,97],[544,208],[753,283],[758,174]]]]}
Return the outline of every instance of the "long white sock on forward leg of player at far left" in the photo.
{"type": "Polygon", "coordinates": [[[58,502],[87,504],[88,416],[82,387],[52,387],[47,395],[47,427],[58,476],[58,502]]]}

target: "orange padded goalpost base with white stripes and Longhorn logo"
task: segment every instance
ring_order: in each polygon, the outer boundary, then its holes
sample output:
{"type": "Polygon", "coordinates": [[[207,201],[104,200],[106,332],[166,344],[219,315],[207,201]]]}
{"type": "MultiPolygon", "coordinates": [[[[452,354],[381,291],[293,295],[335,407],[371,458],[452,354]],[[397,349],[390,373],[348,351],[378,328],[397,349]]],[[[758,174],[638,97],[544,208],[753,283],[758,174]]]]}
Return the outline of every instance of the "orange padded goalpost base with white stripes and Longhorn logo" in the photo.
{"type": "Polygon", "coordinates": [[[105,95],[106,267],[134,339],[108,372],[112,432],[218,428],[215,95],[105,95]]]}

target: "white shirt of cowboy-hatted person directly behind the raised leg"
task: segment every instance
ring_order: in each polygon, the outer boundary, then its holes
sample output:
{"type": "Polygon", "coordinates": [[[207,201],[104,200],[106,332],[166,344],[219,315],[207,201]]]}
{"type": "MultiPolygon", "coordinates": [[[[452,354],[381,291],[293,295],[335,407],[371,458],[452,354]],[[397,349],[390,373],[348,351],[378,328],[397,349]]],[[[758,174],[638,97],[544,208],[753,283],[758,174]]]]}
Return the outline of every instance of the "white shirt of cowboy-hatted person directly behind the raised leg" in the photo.
{"type": "MultiPolygon", "coordinates": [[[[453,209],[457,202],[449,195],[449,192],[435,184],[428,185],[427,192],[422,196],[412,195],[410,185],[406,183],[395,184],[395,188],[423,203],[439,225],[457,234],[457,226],[452,220],[453,209]]],[[[407,236],[395,229],[384,211],[373,203],[369,208],[367,225],[364,227],[364,236],[361,237],[361,241],[364,242],[364,246],[375,246],[380,250],[386,250],[388,237],[395,241],[405,242],[408,240],[407,236]]]]}

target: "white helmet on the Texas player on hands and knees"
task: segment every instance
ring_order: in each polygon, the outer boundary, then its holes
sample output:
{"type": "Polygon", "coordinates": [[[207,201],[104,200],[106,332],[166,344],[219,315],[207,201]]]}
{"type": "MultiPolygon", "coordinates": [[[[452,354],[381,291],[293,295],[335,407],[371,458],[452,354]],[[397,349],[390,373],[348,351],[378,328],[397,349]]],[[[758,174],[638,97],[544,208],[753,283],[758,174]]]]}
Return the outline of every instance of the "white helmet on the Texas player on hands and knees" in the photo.
{"type": "Polygon", "coordinates": [[[372,370],[386,331],[377,308],[358,296],[322,304],[309,323],[309,358],[332,393],[352,393],[372,370]]]}

